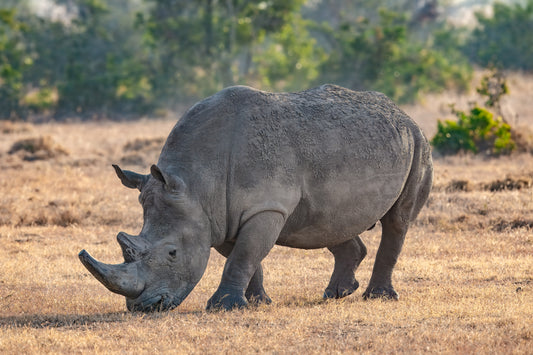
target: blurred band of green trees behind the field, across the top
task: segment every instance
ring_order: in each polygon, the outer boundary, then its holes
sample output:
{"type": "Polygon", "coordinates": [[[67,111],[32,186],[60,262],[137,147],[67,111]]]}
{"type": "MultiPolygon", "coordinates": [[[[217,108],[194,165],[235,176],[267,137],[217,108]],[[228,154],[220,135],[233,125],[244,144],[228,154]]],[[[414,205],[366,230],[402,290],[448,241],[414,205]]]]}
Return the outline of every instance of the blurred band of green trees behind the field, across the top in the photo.
{"type": "Polygon", "coordinates": [[[0,2],[0,119],[158,115],[234,84],[410,103],[494,66],[533,71],[533,0],[0,2]]]}

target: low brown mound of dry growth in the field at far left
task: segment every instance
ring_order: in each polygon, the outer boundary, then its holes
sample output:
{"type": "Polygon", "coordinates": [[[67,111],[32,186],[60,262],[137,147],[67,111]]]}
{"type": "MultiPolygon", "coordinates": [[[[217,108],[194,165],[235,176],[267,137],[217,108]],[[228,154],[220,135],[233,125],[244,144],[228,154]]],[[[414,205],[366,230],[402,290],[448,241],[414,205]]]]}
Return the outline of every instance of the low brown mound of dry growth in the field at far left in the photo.
{"type": "Polygon", "coordinates": [[[68,151],[57,144],[50,136],[26,138],[16,141],[8,154],[19,155],[22,160],[47,160],[59,156],[69,155],[68,151]]]}

